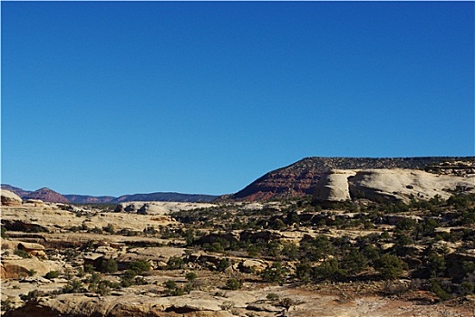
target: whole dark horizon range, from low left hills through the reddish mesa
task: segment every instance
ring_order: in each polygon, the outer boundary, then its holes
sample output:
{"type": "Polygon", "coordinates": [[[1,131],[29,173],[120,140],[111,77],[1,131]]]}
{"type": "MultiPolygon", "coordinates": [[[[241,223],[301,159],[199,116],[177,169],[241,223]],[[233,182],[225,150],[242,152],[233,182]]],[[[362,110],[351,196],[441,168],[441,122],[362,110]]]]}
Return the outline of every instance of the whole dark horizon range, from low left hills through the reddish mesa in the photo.
{"type": "Polygon", "coordinates": [[[179,194],[179,193],[150,193],[110,196],[83,196],[62,195],[50,188],[40,188],[28,191],[10,185],[2,188],[15,192],[23,199],[41,199],[49,202],[63,203],[102,203],[118,204],[128,201],[176,201],[176,202],[211,202],[219,198],[220,201],[244,200],[262,201],[269,199],[303,197],[312,195],[315,184],[321,175],[330,169],[359,169],[359,168],[410,168],[423,169],[433,164],[447,161],[474,161],[475,157],[420,157],[420,158],[305,158],[285,168],[278,168],[257,178],[247,187],[235,194],[222,197],[212,195],[179,194]]]}

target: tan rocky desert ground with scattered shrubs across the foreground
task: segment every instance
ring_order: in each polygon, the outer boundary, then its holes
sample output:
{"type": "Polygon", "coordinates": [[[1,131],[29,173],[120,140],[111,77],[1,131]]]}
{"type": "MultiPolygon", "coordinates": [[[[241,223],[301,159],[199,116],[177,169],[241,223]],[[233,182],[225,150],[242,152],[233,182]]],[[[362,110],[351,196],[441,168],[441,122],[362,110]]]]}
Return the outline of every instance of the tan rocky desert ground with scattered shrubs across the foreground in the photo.
{"type": "MultiPolygon", "coordinates": [[[[473,290],[441,300],[434,289],[416,285],[422,283],[411,275],[416,255],[402,256],[409,267],[388,279],[375,277],[375,264],[336,280],[315,274],[308,279],[299,271],[306,240],[325,235],[334,245],[342,237],[358,244],[384,232],[393,235],[402,220],[423,220],[428,214],[422,207],[411,215],[380,212],[372,224],[354,225],[369,202],[360,209],[322,209],[308,205],[309,199],[141,202],[98,209],[7,196],[2,199],[5,316],[475,316],[473,290]],[[340,217],[346,226],[334,225],[340,217]],[[274,249],[273,242],[280,245],[274,249]],[[292,245],[295,255],[286,249],[292,245]],[[276,263],[286,267],[281,275],[276,263]]],[[[473,230],[472,223],[462,227],[473,230]]],[[[437,230],[453,228],[447,223],[437,230]]],[[[381,250],[397,244],[385,239],[374,244],[381,250]]],[[[475,259],[473,243],[460,239],[444,245],[447,261],[451,255],[475,259]]],[[[339,256],[328,252],[329,258],[339,256]]]]}

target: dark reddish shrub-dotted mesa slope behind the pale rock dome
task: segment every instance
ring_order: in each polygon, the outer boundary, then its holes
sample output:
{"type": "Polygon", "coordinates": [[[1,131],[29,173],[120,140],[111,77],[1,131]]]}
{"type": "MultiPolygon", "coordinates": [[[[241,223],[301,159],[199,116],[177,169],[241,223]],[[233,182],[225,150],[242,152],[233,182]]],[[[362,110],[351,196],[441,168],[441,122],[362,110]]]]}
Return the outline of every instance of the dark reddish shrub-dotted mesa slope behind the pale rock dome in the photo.
{"type": "Polygon", "coordinates": [[[262,201],[286,197],[312,195],[321,175],[331,169],[356,168],[410,168],[423,169],[429,165],[451,160],[473,160],[474,157],[420,157],[420,158],[306,158],[268,172],[249,184],[230,200],[262,201]]]}

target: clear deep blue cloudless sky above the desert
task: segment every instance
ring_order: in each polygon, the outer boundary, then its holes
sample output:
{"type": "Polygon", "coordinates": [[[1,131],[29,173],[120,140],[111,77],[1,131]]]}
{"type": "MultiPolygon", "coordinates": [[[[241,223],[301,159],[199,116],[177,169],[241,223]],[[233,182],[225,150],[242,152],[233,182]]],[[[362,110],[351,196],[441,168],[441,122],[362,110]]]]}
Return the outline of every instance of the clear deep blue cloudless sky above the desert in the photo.
{"type": "Polygon", "coordinates": [[[237,192],[311,156],[474,155],[473,2],[5,2],[2,182],[237,192]]]}

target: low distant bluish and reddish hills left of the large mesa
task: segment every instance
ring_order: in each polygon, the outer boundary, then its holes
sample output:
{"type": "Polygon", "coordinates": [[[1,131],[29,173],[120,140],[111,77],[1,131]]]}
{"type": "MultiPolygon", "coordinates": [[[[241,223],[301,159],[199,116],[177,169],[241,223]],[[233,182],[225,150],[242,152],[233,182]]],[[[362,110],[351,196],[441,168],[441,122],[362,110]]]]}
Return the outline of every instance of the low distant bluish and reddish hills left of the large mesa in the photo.
{"type": "Polygon", "coordinates": [[[150,193],[123,195],[121,197],[111,196],[86,196],[86,195],[62,195],[50,188],[40,188],[35,191],[24,190],[19,187],[2,184],[2,188],[14,192],[22,199],[41,199],[54,203],[76,203],[76,204],[119,204],[128,201],[175,201],[175,202],[210,202],[218,196],[199,194],[179,194],[179,193],[150,193]]]}

